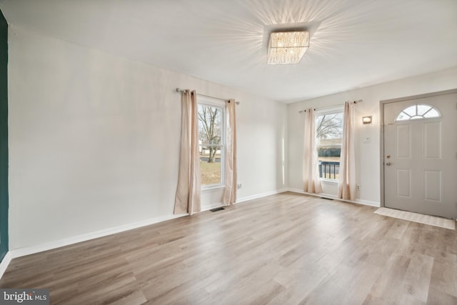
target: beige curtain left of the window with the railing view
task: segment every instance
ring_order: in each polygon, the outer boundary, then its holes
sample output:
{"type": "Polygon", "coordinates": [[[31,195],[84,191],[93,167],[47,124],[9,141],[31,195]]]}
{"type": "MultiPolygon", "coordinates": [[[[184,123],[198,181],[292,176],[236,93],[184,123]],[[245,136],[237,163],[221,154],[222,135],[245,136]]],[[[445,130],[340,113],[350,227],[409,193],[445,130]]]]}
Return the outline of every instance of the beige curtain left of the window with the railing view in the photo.
{"type": "Polygon", "coordinates": [[[322,186],[318,170],[315,122],[314,109],[306,109],[303,147],[303,190],[307,193],[319,194],[322,193],[322,186]]]}

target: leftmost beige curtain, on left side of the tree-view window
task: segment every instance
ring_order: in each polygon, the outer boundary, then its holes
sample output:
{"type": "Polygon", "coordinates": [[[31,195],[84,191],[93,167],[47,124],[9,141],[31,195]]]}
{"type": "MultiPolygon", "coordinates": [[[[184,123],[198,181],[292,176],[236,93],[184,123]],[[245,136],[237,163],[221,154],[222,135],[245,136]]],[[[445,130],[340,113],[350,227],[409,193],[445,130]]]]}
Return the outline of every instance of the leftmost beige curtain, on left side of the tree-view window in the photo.
{"type": "Polygon", "coordinates": [[[200,211],[199,122],[196,92],[185,90],[181,96],[181,154],[174,214],[190,215],[200,211]]]}

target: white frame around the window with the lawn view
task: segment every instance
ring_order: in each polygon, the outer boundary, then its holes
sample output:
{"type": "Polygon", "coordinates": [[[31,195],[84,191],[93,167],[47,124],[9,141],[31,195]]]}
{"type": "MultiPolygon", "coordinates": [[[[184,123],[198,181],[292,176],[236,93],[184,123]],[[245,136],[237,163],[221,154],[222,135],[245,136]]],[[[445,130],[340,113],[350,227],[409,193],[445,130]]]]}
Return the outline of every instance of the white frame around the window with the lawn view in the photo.
{"type": "MultiPolygon", "coordinates": [[[[216,184],[201,184],[201,190],[211,190],[211,189],[221,189],[226,187],[226,147],[227,147],[227,124],[226,124],[226,101],[221,101],[219,99],[214,99],[209,96],[199,96],[197,99],[197,111],[199,111],[199,106],[210,106],[221,109],[221,143],[220,144],[208,144],[206,146],[216,146],[221,147],[221,182],[216,184]]],[[[199,120],[200,124],[200,120],[199,120]]],[[[200,141],[200,139],[199,139],[200,141]]],[[[203,143],[199,143],[200,146],[203,146],[203,143]]],[[[201,175],[201,169],[200,169],[201,175]]]]}

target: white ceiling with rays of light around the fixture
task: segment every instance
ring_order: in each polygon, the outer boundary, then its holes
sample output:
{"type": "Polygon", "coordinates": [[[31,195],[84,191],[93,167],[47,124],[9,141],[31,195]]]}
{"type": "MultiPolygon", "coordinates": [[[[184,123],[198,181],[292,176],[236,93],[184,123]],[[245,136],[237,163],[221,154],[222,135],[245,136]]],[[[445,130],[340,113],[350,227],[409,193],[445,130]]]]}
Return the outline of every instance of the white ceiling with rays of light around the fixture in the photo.
{"type": "Polygon", "coordinates": [[[285,103],[457,66],[457,0],[0,0],[9,24],[285,103]],[[311,31],[267,65],[271,29],[311,31]]]}

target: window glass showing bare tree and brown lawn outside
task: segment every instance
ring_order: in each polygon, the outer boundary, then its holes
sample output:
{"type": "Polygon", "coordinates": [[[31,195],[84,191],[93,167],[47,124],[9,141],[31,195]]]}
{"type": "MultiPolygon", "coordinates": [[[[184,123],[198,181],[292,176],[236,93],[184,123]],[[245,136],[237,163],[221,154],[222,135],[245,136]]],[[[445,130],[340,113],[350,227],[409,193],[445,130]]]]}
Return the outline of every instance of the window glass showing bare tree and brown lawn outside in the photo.
{"type": "Polygon", "coordinates": [[[225,171],[225,102],[201,98],[198,117],[201,186],[222,186],[225,171]]]}

